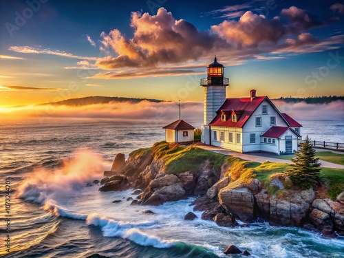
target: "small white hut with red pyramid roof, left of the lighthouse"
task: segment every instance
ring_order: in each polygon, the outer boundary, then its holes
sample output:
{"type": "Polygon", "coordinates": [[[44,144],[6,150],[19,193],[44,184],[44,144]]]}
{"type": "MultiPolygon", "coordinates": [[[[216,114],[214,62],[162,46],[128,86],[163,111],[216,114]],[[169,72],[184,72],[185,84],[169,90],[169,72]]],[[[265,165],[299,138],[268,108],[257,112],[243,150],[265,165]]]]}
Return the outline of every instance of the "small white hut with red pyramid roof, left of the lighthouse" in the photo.
{"type": "Polygon", "coordinates": [[[165,129],[166,142],[191,142],[194,139],[195,127],[182,119],[172,122],[162,129],[165,129]]]}

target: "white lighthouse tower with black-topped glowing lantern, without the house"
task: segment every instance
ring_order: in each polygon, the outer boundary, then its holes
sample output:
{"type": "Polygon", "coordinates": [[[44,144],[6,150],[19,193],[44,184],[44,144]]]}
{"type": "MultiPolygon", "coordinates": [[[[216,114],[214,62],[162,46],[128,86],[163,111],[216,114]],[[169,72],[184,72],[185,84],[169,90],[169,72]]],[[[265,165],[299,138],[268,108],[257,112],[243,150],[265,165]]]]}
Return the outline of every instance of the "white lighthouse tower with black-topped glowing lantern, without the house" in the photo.
{"type": "Polygon", "coordinates": [[[204,144],[211,144],[210,122],[215,118],[216,111],[226,100],[226,86],[229,79],[224,77],[224,65],[214,62],[208,65],[207,78],[201,79],[201,86],[204,87],[204,125],[202,125],[202,138],[204,144]]]}

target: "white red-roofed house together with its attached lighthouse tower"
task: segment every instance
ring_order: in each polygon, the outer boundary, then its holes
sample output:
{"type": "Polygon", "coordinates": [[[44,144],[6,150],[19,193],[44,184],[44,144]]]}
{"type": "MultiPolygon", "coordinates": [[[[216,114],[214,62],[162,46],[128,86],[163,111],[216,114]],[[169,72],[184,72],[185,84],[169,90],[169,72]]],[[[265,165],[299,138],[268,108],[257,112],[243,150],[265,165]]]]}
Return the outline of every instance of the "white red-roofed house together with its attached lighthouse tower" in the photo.
{"type": "Polygon", "coordinates": [[[275,107],[268,96],[250,91],[246,98],[226,98],[229,79],[224,66],[208,66],[208,77],[201,80],[204,87],[204,125],[202,142],[238,152],[268,151],[293,153],[301,127],[297,121],[275,107]]]}

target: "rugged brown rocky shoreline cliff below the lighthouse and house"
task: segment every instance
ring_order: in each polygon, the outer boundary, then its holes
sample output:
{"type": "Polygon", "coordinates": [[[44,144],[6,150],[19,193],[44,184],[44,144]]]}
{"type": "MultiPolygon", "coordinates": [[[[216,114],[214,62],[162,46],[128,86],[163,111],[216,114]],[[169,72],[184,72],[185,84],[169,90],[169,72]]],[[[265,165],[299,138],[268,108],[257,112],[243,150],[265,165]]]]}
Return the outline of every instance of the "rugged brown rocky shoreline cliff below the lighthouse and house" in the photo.
{"type": "Polygon", "coordinates": [[[171,173],[171,160],[176,163],[187,151],[195,151],[194,147],[182,148],[158,142],[151,148],[133,151],[127,160],[119,153],[111,170],[105,171],[99,191],[139,189],[138,199],[131,204],[141,205],[160,205],[196,196],[193,210],[203,211],[202,219],[213,220],[219,226],[239,226],[236,219],[247,223],[240,226],[265,220],[272,225],[316,230],[324,237],[344,235],[344,192],[330,200],[323,198],[321,187],[305,191],[297,187],[286,189],[288,178],[277,175],[268,187],[283,189],[283,193],[272,194],[257,178],[239,180],[231,173],[233,164],[221,157],[214,160],[210,155],[201,161],[188,161],[198,162],[195,171],[180,169],[180,173],[171,173]]]}

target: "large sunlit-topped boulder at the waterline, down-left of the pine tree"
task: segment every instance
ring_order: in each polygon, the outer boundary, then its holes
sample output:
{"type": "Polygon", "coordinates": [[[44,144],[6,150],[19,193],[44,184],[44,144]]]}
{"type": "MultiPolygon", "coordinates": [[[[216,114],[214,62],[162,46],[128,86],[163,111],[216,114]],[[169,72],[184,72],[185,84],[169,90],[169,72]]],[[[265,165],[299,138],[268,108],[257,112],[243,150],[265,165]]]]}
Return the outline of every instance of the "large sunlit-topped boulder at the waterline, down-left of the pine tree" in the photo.
{"type": "Polygon", "coordinates": [[[255,219],[255,199],[248,189],[225,187],[219,191],[218,197],[222,207],[228,213],[235,213],[243,222],[252,222],[255,219]]]}

